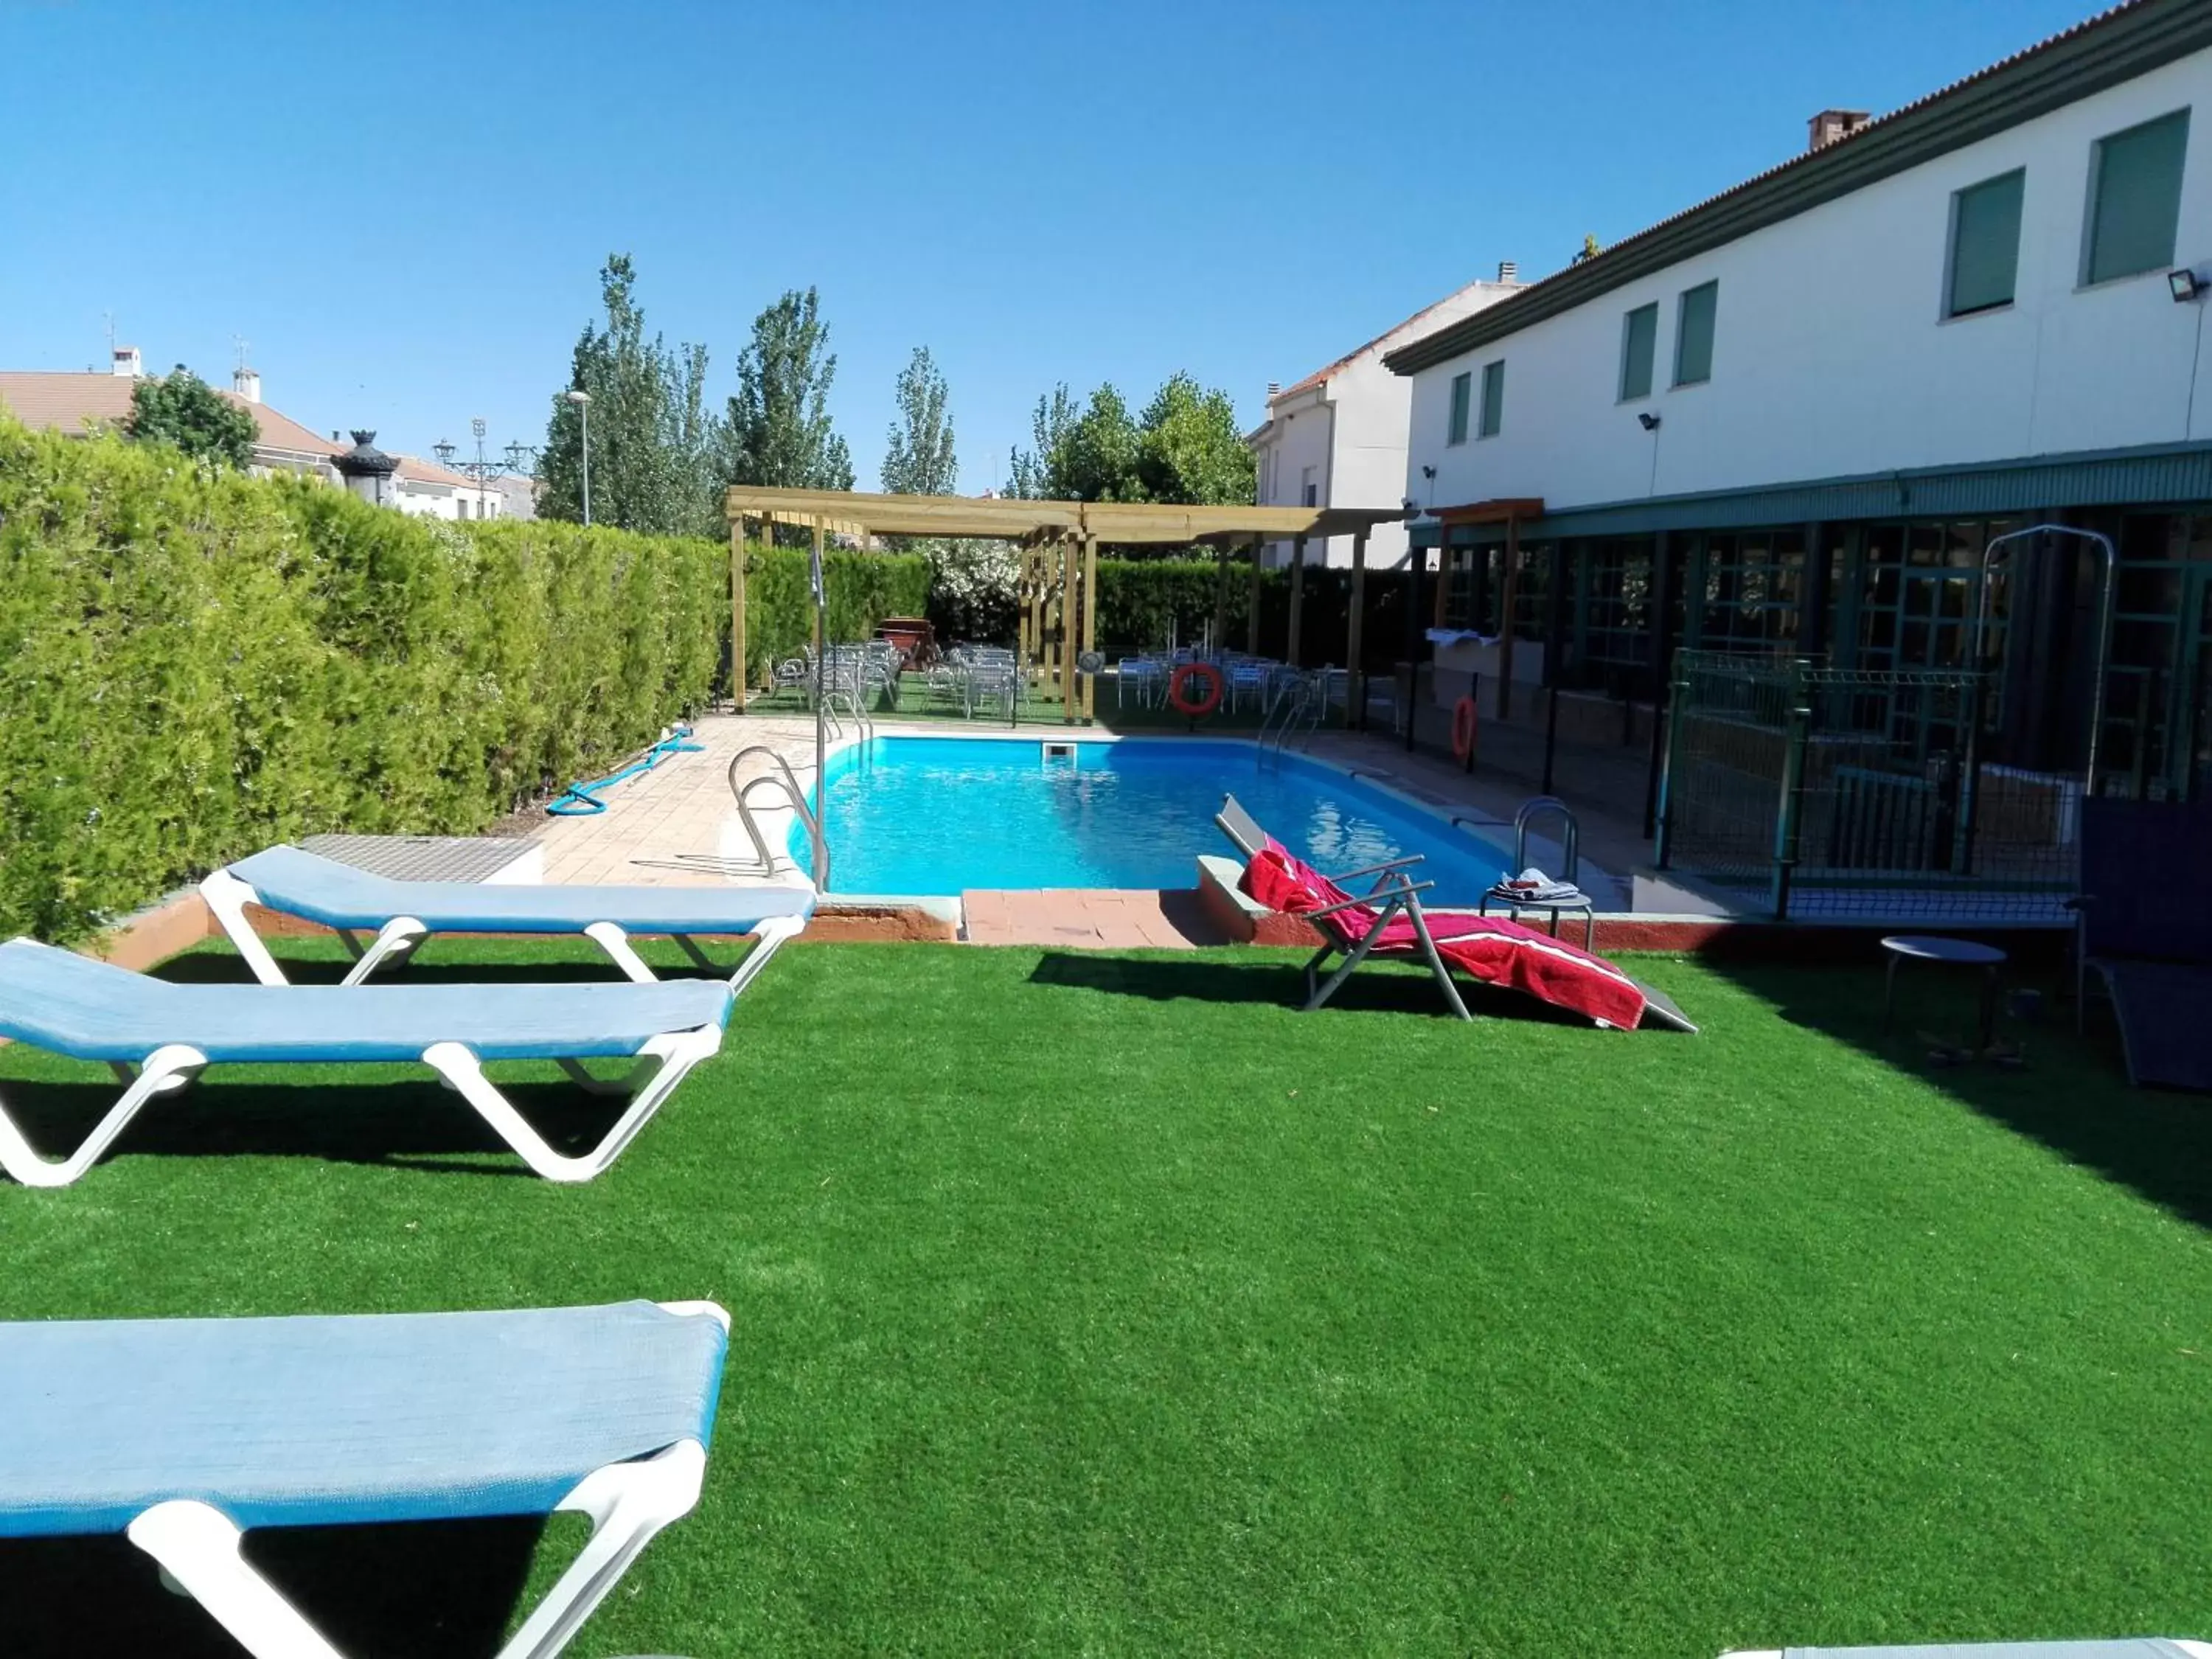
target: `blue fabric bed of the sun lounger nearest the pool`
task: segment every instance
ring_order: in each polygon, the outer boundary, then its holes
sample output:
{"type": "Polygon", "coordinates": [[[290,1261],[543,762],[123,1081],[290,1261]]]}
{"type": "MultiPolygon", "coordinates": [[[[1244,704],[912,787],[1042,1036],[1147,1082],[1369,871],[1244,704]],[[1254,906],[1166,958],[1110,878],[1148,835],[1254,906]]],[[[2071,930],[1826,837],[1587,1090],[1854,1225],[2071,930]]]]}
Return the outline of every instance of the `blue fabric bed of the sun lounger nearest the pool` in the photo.
{"type": "Polygon", "coordinates": [[[772,916],[812,916],[794,887],[538,887],[473,880],[392,880],[270,847],[230,865],[270,909],[323,927],[383,927],[414,916],[434,933],[582,933],[615,922],[626,933],[748,933],[772,916]]]}

